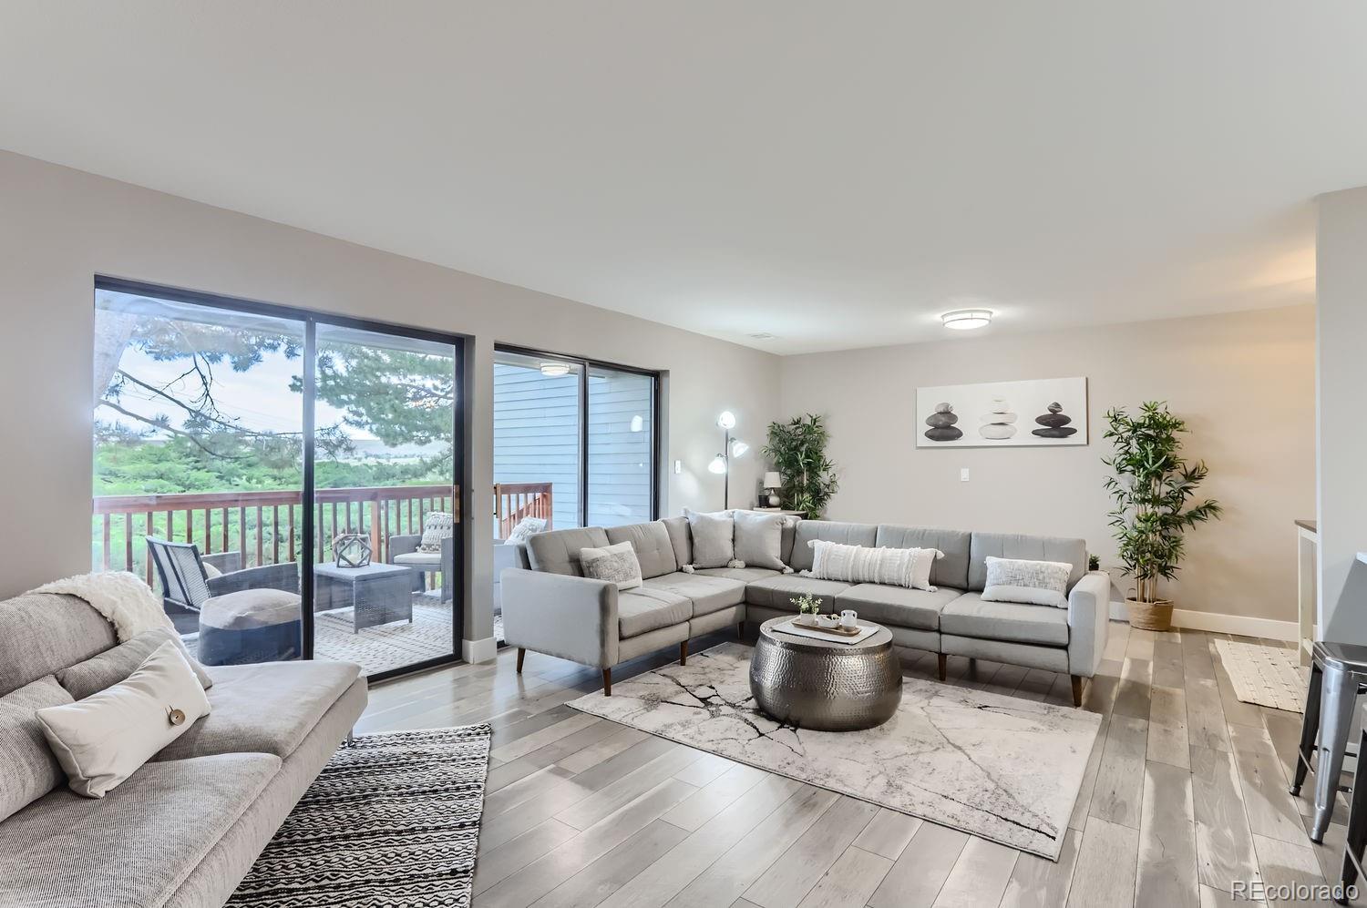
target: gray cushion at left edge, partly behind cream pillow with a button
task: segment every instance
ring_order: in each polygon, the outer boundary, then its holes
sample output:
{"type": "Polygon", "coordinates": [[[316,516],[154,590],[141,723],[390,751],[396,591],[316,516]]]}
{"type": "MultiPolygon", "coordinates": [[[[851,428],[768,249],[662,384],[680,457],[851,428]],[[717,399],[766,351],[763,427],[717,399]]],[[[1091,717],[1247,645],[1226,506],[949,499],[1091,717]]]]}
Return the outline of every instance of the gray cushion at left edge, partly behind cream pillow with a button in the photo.
{"type": "Polygon", "coordinates": [[[51,675],[0,696],[0,821],[66,781],[34,713],[72,702],[51,675]]]}

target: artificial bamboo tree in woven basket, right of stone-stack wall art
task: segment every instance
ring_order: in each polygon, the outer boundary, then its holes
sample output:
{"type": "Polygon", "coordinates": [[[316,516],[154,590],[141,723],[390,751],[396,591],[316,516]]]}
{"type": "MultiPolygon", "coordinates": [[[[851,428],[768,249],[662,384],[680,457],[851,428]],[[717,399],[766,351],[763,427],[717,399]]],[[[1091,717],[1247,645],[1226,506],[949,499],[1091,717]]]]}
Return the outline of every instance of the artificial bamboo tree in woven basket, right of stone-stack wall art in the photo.
{"type": "Polygon", "coordinates": [[[1115,474],[1106,479],[1115,502],[1110,523],[1120,542],[1120,563],[1135,578],[1135,598],[1125,599],[1129,624],[1166,631],[1173,604],[1159,598],[1158,582],[1177,576],[1182,534],[1218,517],[1221,507],[1211,498],[1191,504],[1210,471],[1200,460],[1182,459],[1178,434],[1188,430],[1187,423],[1170,414],[1166,403],[1144,403],[1137,416],[1111,408],[1106,422],[1105,437],[1115,445],[1114,456],[1103,459],[1115,474]]]}

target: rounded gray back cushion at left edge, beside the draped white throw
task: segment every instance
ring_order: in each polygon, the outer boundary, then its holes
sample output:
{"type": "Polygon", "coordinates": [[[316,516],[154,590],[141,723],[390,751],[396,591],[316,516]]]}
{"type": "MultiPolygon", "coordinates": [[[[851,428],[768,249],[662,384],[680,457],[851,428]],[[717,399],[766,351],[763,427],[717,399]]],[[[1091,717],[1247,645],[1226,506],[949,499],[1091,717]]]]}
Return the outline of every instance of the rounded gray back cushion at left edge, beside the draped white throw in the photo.
{"type": "Polygon", "coordinates": [[[85,599],[25,593],[0,602],[0,696],[118,643],[85,599]]]}

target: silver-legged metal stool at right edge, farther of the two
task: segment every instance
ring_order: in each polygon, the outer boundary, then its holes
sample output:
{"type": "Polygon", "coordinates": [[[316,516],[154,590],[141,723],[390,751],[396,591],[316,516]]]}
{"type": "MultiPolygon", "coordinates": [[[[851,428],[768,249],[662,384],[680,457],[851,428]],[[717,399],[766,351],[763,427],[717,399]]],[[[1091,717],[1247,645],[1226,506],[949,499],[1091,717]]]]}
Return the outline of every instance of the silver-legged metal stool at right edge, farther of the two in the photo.
{"type": "Polygon", "coordinates": [[[1325,841],[1325,830],[1334,815],[1338,776],[1344,769],[1348,733],[1353,724],[1357,694],[1367,684],[1367,646],[1316,640],[1311,651],[1310,685],[1305,690],[1305,718],[1300,726],[1300,748],[1290,793],[1300,795],[1315,751],[1315,822],[1310,840],[1325,841]],[[1319,739],[1319,747],[1315,739],[1319,739]]]}

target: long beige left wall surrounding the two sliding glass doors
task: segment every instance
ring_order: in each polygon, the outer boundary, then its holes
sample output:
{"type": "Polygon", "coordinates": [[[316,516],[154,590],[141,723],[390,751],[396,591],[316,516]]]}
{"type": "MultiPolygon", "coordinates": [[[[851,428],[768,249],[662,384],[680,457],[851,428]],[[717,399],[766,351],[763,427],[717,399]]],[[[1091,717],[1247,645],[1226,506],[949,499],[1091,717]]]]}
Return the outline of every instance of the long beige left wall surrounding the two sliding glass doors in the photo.
{"type": "MultiPolygon", "coordinates": [[[[668,371],[666,513],[720,507],[720,478],[707,472],[720,410],[752,442],[778,412],[779,360],[768,354],[0,153],[0,595],[89,569],[97,273],[473,335],[474,513],[493,509],[495,341],[668,371]]],[[[735,463],[733,501],[761,470],[757,457],[735,463]]],[[[484,639],[491,541],[468,535],[466,638],[484,639]]]]}

